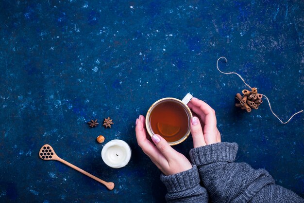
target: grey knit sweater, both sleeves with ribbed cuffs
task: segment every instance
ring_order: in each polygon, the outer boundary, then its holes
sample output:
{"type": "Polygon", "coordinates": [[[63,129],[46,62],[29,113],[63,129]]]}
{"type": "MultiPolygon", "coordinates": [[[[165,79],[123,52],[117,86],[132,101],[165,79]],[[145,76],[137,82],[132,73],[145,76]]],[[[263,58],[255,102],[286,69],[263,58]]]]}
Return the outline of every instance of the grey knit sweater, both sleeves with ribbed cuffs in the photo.
{"type": "Polygon", "coordinates": [[[161,175],[167,202],[304,203],[294,192],[275,185],[265,169],[234,163],[237,148],[236,143],[223,142],[191,149],[191,169],[161,175]]]}

